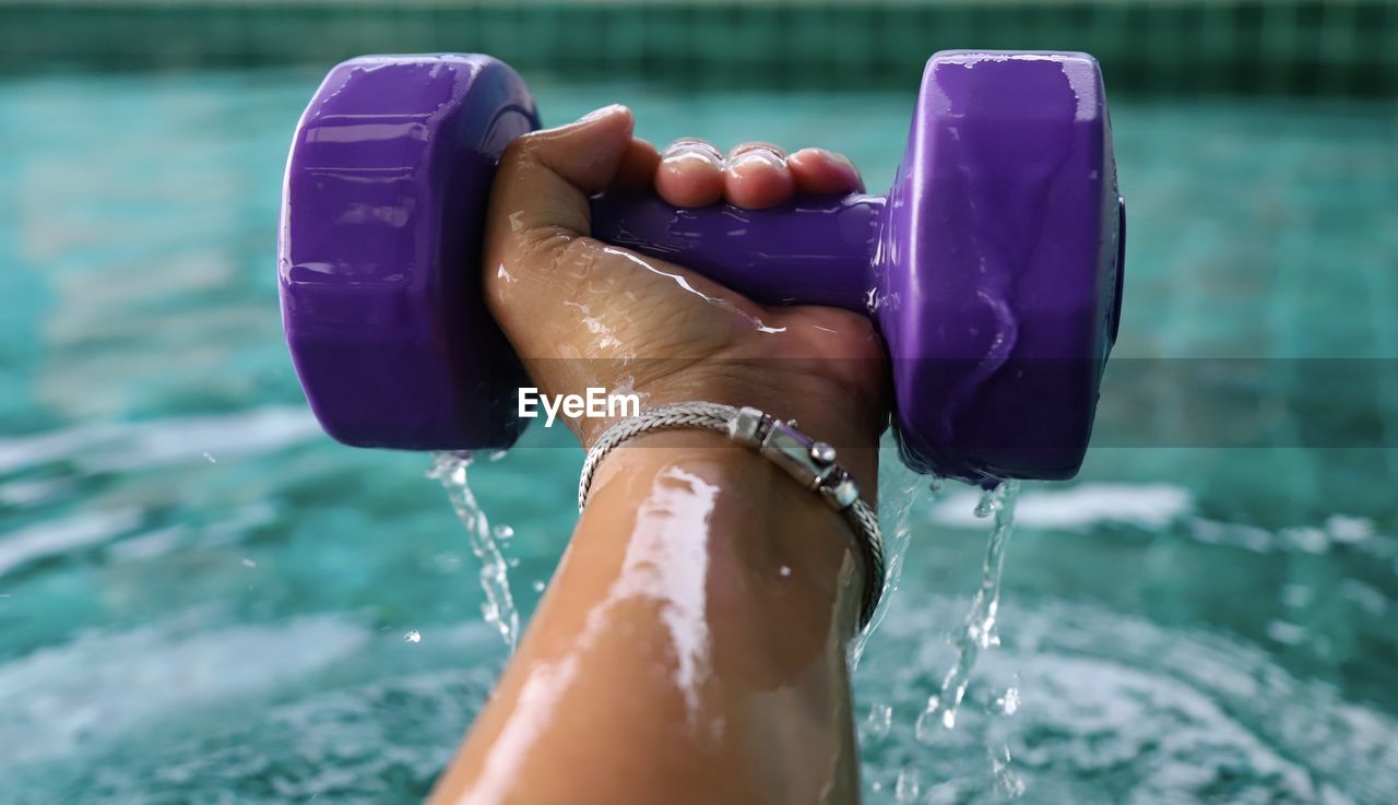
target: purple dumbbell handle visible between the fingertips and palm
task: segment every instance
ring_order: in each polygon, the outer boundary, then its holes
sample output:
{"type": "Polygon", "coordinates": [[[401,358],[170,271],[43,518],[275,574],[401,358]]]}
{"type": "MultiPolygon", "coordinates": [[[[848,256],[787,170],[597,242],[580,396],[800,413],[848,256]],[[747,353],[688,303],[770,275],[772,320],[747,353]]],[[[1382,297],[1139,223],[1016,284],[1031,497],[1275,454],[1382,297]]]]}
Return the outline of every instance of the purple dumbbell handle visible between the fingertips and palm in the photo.
{"type": "Polygon", "coordinates": [[[808,196],[744,210],[604,193],[591,211],[594,238],[693,268],[756,302],[868,310],[882,196],[808,196]]]}

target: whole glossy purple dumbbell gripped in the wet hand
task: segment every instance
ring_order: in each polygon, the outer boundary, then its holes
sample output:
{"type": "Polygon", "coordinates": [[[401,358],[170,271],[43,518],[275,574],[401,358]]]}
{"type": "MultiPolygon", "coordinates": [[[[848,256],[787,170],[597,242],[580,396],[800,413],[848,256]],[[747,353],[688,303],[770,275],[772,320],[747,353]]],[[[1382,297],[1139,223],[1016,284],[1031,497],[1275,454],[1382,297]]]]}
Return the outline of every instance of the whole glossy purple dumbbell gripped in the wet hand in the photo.
{"type": "MultiPolygon", "coordinates": [[[[528,384],[481,298],[500,152],[538,127],[480,55],[337,66],[292,140],[278,274],[296,373],[347,444],[500,449],[528,384]]],[[[888,196],[770,210],[593,198],[593,235],[769,305],[870,314],[917,471],[986,482],[1082,464],[1121,312],[1125,212],[1085,53],[932,56],[888,196]]]]}

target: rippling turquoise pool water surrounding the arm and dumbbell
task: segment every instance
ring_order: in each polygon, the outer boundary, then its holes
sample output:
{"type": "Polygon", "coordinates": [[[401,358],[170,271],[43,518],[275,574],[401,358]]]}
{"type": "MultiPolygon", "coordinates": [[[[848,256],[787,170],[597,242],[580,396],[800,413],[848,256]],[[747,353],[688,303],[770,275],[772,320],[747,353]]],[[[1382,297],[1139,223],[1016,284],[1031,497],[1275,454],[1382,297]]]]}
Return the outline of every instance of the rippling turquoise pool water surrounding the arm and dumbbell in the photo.
{"type": "MultiPolygon", "coordinates": [[[[0,84],[3,805],[411,802],[505,658],[429,458],[331,443],[287,361],[277,194],[317,78],[0,84]]],[[[658,141],[829,144],[871,186],[911,101],[538,94],[552,122],[626,101],[658,141]]],[[[1398,451],[1362,444],[1398,440],[1392,109],[1113,113],[1132,218],[1100,447],[1025,486],[1001,644],[927,744],[987,524],[885,464],[917,500],[856,676],[868,799],[1388,805],[1398,451]],[[1321,387],[1300,361],[1339,356],[1369,361],[1321,387]],[[1229,414],[1211,383],[1260,401],[1260,440],[1197,436],[1229,414]]],[[[471,470],[524,616],[582,461],[527,446],[471,470]]]]}

